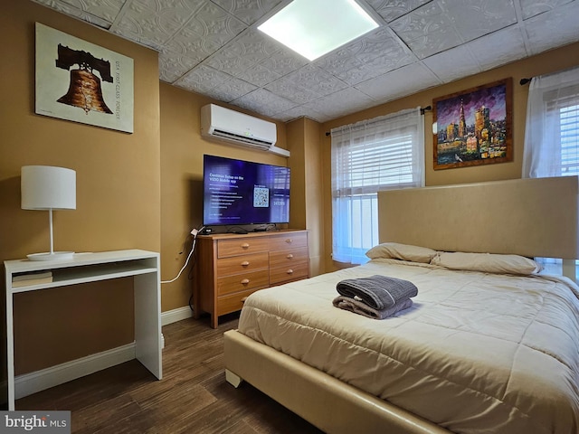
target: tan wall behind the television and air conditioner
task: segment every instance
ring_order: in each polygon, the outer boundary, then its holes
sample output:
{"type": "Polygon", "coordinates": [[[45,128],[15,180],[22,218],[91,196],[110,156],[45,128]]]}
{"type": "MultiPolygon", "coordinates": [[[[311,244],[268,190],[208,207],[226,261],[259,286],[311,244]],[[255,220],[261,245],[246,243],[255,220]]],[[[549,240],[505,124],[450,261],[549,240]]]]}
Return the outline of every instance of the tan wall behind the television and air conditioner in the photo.
{"type": "MultiPolygon", "coordinates": [[[[223,145],[201,137],[201,108],[210,102],[193,92],[161,83],[161,272],[164,280],[176,277],[191,249],[189,232],[203,222],[203,156],[226,156],[271,165],[289,165],[288,158],[269,152],[223,145]],[[185,244],[184,249],[184,244],[185,244]],[[183,253],[180,253],[183,252],[183,253]]],[[[256,116],[253,113],[248,114],[256,116]]],[[[271,120],[271,119],[267,119],[271,120]]],[[[286,126],[277,122],[278,143],[287,148],[286,126]]],[[[292,175],[293,177],[293,175],[292,175]]],[[[293,182],[293,179],[292,179],[293,182]]],[[[293,207],[294,203],[291,203],[293,207]]],[[[299,206],[299,205],[297,205],[299,206]]],[[[290,222],[290,228],[303,229],[290,222]]],[[[191,265],[173,283],[162,286],[164,312],[186,307],[191,295],[191,265]]],[[[195,273],[195,268],[193,269],[195,273]]]]}

